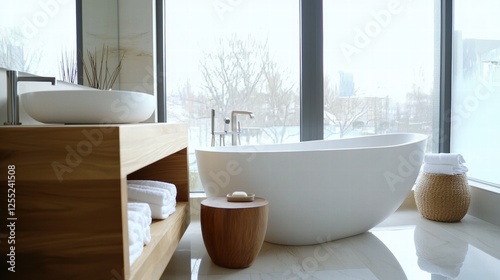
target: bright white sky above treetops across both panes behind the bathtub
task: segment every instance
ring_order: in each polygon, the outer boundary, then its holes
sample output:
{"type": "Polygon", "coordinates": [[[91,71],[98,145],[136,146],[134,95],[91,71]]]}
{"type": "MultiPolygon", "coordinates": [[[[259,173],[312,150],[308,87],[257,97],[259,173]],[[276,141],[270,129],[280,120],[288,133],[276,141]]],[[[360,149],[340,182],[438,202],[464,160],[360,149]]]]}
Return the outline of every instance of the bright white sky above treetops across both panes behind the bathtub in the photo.
{"type": "MultiPolygon", "coordinates": [[[[335,81],[341,70],[354,72],[360,93],[383,96],[404,96],[417,78],[432,86],[433,1],[356,2],[324,2],[324,60],[330,79],[335,81]]],[[[298,0],[167,1],[170,85],[184,83],[186,77],[201,81],[203,52],[216,49],[219,38],[232,34],[267,39],[273,59],[298,85],[298,0]]]]}

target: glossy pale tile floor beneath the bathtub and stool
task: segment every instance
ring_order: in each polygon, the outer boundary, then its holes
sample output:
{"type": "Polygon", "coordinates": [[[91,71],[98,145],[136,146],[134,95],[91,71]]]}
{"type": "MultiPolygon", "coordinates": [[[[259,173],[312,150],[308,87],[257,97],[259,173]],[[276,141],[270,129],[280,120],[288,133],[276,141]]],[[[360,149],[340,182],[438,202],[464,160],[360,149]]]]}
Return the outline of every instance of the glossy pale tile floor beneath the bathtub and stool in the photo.
{"type": "MultiPolygon", "coordinates": [[[[196,212],[196,211],[193,211],[196,212]]],[[[194,213],[161,279],[500,279],[500,227],[399,210],[367,233],[313,246],[265,242],[246,269],[212,263],[194,213]]]]}

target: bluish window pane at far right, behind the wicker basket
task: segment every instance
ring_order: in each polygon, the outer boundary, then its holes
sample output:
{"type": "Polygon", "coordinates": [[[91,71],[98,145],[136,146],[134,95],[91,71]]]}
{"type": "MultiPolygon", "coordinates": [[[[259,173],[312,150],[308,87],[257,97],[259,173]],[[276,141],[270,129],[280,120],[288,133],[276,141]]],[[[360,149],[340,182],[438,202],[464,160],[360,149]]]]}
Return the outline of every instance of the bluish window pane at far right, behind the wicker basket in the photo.
{"type": "Polygon", "coordinates": [[[500,2],[454,1],[451,151],[468,177],[500,186],[500,2]]]}

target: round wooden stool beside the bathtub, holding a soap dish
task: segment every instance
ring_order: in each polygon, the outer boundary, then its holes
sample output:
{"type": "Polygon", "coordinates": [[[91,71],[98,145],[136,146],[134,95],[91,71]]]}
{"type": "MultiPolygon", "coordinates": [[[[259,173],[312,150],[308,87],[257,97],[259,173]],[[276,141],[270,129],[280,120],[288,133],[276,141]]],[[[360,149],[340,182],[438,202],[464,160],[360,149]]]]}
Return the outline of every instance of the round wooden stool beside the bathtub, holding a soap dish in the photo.
{"type": "Polygon", "coordinates": [[[228,202],[225,197],[201,202],[201,232],[212,261],[222,267],[249,267],[264,243],[268,202],[228,202]]]}

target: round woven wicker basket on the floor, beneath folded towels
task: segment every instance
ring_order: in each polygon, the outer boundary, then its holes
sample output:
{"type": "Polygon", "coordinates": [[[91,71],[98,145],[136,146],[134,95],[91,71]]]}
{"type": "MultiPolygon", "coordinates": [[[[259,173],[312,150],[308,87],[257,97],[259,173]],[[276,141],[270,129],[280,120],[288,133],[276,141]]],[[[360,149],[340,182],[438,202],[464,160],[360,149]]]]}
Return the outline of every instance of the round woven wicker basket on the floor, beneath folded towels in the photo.
{"type": "Polygon", "coordinates": [[[415,185],[415,202],[424,218],[458,222],[467,214],[470,204],[467,176],[422,172],[415,185]]]}

